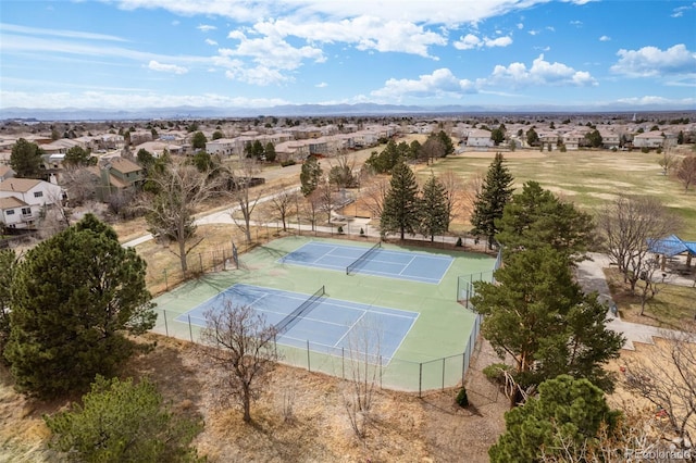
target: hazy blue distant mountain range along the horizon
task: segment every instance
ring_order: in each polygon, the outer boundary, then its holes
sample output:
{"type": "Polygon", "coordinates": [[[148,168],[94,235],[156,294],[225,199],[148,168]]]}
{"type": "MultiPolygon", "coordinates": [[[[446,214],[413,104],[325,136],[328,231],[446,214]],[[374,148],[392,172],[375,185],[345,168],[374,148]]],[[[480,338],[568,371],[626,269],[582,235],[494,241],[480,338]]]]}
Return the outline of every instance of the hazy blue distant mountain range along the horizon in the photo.
{"type": "Polygon", "coordinates": [[[227,118],[257,117],[260,115],[278,117],[311,116],[395,116],[395,115],[452,115],[452,114],[507,114],[507,113],[624,113],[624,112],[671,112],[683,113],[696,111],[696,108],[675,109],[674,107],[652,104],[632,105],[612,104],[607,107],[483,107],[483,105],[399,105],[399,104],[285,104],[271,108],[144,108],[138,110],[98,110],[98,109],[26,109],[8,108],[0,110],[0,120],[35,120],[35,121],[136,121],[136,120],[186,120],[186,118],[227,118]]]}

